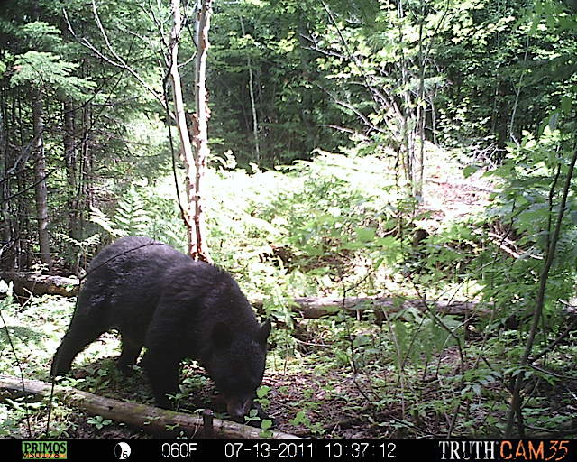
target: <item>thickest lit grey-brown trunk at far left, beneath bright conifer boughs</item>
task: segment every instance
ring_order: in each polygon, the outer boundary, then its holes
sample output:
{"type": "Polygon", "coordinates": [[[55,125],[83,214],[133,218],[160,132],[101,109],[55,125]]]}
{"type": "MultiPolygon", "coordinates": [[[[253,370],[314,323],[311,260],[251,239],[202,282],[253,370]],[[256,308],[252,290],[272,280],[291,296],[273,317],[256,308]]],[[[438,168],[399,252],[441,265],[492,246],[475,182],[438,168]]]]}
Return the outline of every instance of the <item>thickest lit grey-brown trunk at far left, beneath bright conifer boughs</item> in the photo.
{"type": "Polygon", "coordinates": [[[46,185],[46,156],[44,152],[44,122],[42,120],[42,93],[32,90],[32,124],[34,134],[34,197],[36,199],[36,219],[40,260],[52,273],[50,236],[48,235],[48,187],[46,185]]]}

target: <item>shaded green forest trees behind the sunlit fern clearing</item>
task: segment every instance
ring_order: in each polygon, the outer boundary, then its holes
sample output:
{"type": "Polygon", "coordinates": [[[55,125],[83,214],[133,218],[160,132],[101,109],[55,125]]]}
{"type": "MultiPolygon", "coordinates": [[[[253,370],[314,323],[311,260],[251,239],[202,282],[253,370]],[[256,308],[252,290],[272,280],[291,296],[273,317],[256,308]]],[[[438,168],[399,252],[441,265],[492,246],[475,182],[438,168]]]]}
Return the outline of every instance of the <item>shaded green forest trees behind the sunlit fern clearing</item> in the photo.
{"type": "MultiPolygon", "coordinates": [[[[49,264],[50,249],[66,266],[68,238],[99,230],[93,208],[109,212],[169,172],[155,23],[168,5],[95,4],[95,16],[92,2],[2,4],[2,265],[49,264]]],[[[180,43],[189,96],[192,13],[180,43]]],[[[353,150],[390,157],[409,181],[422,180],[426,143],[500,162],[508,143],[571,118],[572,13],[548,2],[216,2],[213,162],[270,169],[353,150]]]]}

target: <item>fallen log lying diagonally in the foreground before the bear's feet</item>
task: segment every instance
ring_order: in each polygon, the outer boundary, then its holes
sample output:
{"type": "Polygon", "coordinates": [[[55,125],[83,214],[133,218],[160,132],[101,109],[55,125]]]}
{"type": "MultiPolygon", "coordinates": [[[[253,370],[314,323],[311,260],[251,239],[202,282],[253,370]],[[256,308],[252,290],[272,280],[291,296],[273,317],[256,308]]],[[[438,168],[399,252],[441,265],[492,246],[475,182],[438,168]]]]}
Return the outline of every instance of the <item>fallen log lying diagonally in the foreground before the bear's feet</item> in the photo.
{"type": "MultiPolygon", "coordinates": [[[[0,375],[0,390],[19,396],[32,393],[37,397],[50,397],[51,383],[40,380],[22,380],[0,375]]],[[[1,393],[4,395],[5,393],[1,393]]],[[[96,394],[81,392],[67,386],[54,386],[54,395],[69,406],[78,407],[90,415],[101,415],[105,419],[124,422],[160,438],[175,438],[184,431],[188,438],[204,438],[212,434],[215,439],[261,439],[261,429],[226,420],[212,419],[212,429],[206,429],[202,417],[182,412],[167,411],[154,406],[135,402],[121,402],[96,394]]],[[[5,396],[4,396],[5,398],[5,396]]],[[[3,398],[2,398],[3,399],[3,398]]],[[[271,439],[298,439],[294,435],[272,431],[271,439]]]]}

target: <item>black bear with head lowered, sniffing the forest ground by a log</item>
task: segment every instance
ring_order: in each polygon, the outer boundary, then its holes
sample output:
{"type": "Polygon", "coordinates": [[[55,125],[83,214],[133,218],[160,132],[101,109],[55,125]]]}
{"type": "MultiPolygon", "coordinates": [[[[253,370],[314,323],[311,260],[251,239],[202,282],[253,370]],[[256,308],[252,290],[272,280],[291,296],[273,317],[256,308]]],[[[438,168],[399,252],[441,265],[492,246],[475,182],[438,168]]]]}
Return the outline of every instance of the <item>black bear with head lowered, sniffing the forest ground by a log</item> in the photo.
{"type": "Polygon", "coordinates": [[[51,374],[66,373],[75,356],[115,328],[122,337],[118,368],[130,374],[143,346],[142,367],[158,406],[178,391],[179,363],[197,359],[237,420],[261,384],[270,320],[259,324],[233,277],[195,262],[148,237],[123,237],[96,255],[78,294],[51,374]]]}

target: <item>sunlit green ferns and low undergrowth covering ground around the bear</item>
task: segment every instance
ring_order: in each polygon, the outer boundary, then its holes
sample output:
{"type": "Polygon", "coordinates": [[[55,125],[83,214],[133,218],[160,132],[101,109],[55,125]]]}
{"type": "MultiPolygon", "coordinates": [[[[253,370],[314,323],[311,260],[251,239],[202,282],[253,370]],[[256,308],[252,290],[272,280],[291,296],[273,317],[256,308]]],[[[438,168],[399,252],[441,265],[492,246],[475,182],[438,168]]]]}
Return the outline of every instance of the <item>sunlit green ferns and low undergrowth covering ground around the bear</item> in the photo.
{"type": "MultiPolygon", "coordinates": [[[[573,334],[546,362],[517,366],[531,292],[519,297],[516,284],[519,278],[527,288],[535,283],[536,262],[508,260],[511,254],[499,251],[494,235],[503,224],[494,215],[481,207],[466,218],[440,220],[417,199],[407,199],[388,173],[389,159],[376,156],[320,152],[313,162],[274,171],[233,167],[229,158],[209,170],[209,243],[215,262],[234,274],[250,300],[262,298],[261,316],[275,321],[259,399],[277,428],[323,438],[499,437],[517,374],[532,384],[524,402],[527,430],[554,430],[572,419],[560,403],[574,401],[573,334]],[[416,242],[418,229],[426,233],[416,242]],[[292,306],[293,298],[303,296],[388,297],[389,305],[346,314],[337,306],[321,319],[304,319],[292,306]],[[477,305],[466,316],[442,310],[442,301],[454,300],[477,305]],[[518,320],[513,328],[512,314],[518,320]]],[[[185,233],[170,188],[169,179],[154,188],[135,184],[116,208],[95,209],[98,235],[87,238],[83,252],[89,256],[115,236],[134,234],[183,249],[185,233]]],[[[491,207],[507,208],[507,197],[491,207]]],[[[532,241],[527,229],[517,226],[526,237],[509,235],[508,245],[537,254],[540,241],[532,241]]],[[[567,243],[573,232],[567,228],[567,243]]],[[[570,274],[567,266],[556,268],[557,275],[570,274]]],[[[560,283],[569,298],[572,285],[560,283]]],[[[0,306],[0,374],[48,380],[73,301],[31,297],[17,303],[7,296],[0,306]]],[[[563,330],[558,307],[552,301],[545,313],[541,347],[563,330]]],[[[107,334],[77,357],[78,374],[66,383],[151,403],[138,367],[127,379],[106,359],[117,351],[117,338],[107,334]]],[[[175,399],[189,412],[213,406],[217,398],[194,362],[183,365],[180,392],[175,399]]],[[[2,402],[2,436],[43,435],[47,403],[2,402]]],[[[66,406],[58,400],[52,406],[47,438],[126,430],[98,416],[70,420],[66,406]],[[91,431],[83,432],[82,425],[91,431]]]]}

